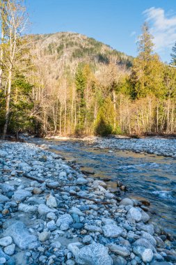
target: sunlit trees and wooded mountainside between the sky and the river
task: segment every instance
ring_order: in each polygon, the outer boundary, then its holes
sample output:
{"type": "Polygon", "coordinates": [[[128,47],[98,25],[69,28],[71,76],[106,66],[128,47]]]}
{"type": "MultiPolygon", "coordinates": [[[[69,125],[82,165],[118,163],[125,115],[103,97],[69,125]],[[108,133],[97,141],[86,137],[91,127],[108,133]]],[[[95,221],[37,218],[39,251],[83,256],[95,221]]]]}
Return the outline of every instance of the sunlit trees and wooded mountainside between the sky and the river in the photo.
{"type": "Polygon", "coordinates": [[[0,5],[3,139],[176,132],[176,43],[163,63],[145,22],[133,58],[78,33],[27,35],[23,3],[0,5]]]}

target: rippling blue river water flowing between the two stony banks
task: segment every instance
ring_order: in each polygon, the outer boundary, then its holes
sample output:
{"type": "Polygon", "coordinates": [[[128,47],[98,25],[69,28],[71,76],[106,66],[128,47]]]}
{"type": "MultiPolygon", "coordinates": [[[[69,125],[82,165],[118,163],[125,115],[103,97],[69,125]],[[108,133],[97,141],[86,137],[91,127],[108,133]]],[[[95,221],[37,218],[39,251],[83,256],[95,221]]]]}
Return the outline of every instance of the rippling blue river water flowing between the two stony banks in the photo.
{"type": "Polygon", "coordinates": [[[67,160],[76,160],[81,169],[95,172],[94,178],[110,179],[108,185],[116,187],[117,181],[127,185],[127,197],[145,197],[150,200],[152,222],[176,234],[176,160],[131,151],[96,149],[85,142],[73,140],[33,139],[38,144],[48,144],[52,151],[67,160]]]}

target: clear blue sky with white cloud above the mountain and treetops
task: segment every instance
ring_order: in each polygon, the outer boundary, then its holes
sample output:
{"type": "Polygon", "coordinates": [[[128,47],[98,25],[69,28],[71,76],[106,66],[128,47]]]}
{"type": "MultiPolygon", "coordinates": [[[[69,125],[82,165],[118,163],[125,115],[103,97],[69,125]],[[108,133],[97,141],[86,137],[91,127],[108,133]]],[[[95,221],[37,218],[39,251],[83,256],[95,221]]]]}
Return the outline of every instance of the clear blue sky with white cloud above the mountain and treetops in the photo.
{"type": "Polygon", "coordinates": [[[176,41],[176,0],[25,0],[29,33],[73,31],[136,56],[136,40],[145,20],[155,50],[170,61],[176,41]]]}

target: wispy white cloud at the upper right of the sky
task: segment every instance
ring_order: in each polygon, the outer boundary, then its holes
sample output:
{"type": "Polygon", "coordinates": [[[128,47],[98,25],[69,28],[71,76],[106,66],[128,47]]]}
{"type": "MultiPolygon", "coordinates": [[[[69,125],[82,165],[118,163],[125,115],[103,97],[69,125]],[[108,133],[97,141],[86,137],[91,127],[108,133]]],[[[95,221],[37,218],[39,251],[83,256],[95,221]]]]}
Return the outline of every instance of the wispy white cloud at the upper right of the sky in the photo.
{"type": "Polygon", "coordinates": [[[154,49],[163,53],[170,50],[176,41],[176,15],[166,16],[162,8],[149,8],[143,12],[150,22],[150,32],[154,36],[154,49]]]}

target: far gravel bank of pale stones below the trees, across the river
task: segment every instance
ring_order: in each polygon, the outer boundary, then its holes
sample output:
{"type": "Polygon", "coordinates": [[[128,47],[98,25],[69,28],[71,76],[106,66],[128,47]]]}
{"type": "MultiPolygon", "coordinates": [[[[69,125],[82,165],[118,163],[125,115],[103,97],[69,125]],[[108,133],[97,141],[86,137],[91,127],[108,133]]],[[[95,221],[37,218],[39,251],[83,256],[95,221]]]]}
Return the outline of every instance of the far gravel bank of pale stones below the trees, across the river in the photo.
{"type": "Polygon", "coordinates": [[[176,139],[165,139],[162,137],[145,137],[134,139],[129,137],[46,137],[46,139],[74,139],[87,142],[100,149],[129,150],[136,153],[154,153],[157,156],[169,156],[176,158],[176,139]]]}

